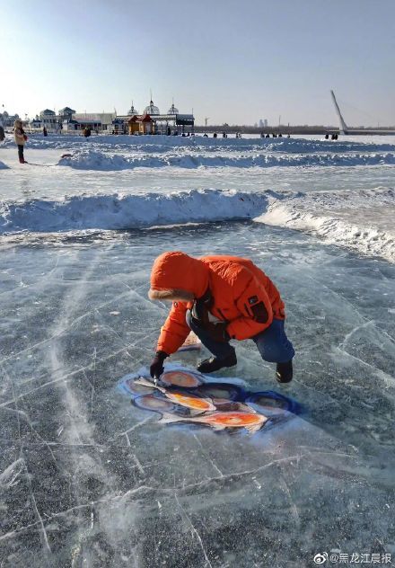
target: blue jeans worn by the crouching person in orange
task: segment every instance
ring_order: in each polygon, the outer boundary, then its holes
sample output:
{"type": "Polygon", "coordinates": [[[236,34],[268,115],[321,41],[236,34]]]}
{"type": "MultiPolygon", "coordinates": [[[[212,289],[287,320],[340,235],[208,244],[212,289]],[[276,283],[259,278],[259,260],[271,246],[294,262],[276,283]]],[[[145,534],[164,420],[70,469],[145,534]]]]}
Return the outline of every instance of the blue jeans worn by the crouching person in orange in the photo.
{"type": "MultiPolygon", "coordinates": [[[[235,352],[234,347],[230,343],[215,342],[210,333],[195,324],[190,310],[187,311],[186,319],[192,332],[198,335],[199,340],[215,357],[224,359],[235,352]]],[[[251,340],[255,342],[260,356],[265,361],[285,363],[294,357],[294,347],[285,335],[284,320],[274,319],[264,332],[254,335],[254,337],[251,337],[251,340]]]]}

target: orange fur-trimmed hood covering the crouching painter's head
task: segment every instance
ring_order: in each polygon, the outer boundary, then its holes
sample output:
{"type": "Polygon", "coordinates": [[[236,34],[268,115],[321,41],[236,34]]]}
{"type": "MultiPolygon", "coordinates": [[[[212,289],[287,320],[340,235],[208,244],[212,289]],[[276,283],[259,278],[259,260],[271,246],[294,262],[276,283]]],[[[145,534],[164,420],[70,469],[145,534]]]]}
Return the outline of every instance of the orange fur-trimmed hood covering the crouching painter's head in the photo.
{"type": "Polygon", "coordinates": [[[182,289],[201,297],[208,288],[208,267],[180,251],[162,253],[151,272],[151,289],[182,289]]]}

